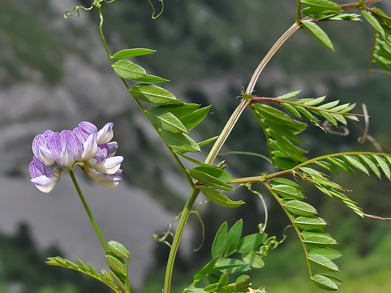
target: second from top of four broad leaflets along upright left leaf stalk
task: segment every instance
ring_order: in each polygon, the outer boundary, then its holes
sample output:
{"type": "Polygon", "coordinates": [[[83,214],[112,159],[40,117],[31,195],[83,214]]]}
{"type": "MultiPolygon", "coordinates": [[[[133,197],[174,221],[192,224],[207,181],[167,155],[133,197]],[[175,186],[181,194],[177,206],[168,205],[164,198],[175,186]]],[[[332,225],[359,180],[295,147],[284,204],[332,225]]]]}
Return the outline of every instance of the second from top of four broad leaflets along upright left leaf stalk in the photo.
{"type": "Polygon", "coordinates": [[[148,83],[137,84],[130,89],[130,92],[136,99],[155,105],[183,104],[169,91],[148,83]]]}

